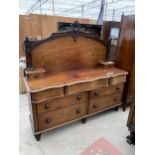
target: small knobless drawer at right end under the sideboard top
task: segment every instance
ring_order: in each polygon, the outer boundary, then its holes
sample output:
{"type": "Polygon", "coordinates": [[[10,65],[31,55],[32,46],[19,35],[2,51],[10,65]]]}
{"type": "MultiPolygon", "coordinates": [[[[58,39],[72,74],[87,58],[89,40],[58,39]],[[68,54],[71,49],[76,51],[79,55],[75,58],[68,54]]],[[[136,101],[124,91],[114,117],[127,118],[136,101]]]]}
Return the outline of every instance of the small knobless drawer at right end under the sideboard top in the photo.
{"type": "Polygon", "coordinates": [[[116,85],[126,81],[126,75],[116,76],[109,79],[109,85],[116,85]]]}

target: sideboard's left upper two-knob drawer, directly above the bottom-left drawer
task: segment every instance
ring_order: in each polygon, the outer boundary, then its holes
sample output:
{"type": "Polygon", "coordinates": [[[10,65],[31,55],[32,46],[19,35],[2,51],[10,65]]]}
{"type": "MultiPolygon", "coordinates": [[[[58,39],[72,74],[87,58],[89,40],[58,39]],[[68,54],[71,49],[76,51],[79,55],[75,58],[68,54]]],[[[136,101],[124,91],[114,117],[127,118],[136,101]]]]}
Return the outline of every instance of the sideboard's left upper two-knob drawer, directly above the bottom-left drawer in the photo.
{"type": "Polygon", "coordinates": [[[38,113],[60,109],[77,103],[88,103],[88,93],[78,93],[61,98],[55,98],[37,104],[38,113]]]}

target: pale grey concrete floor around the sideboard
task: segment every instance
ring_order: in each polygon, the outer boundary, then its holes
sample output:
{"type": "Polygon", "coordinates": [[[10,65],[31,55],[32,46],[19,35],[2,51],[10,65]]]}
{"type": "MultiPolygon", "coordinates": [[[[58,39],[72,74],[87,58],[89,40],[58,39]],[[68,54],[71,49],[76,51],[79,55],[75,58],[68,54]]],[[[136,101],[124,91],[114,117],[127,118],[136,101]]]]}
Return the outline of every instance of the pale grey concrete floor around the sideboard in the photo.
{"type": "Polygon", "coordinates": [[[19,106],[20,155],[78,155],[100,137],[106,138],[124,155],[135,154],[134,145],[126,142],[129,109],[126,112],[110,110],[88,118],[86,124],[77,121],[57,128],[44,133],[38,142],[32,134],[26,95],[20,95],[19,106]]]}

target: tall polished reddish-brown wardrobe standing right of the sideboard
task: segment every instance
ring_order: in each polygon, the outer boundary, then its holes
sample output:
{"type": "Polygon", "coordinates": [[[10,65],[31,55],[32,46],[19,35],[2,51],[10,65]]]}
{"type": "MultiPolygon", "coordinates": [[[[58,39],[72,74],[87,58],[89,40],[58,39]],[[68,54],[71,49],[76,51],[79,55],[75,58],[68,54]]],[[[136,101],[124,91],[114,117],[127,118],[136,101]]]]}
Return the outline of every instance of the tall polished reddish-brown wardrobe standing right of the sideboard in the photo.
{"type": "Polygon", "coordinates": [[[126,103],[133,99],[135,89],[135,16],[122,16],[121,23],[116,65],[128,71],[123,94],[123,109],[125,110],[126,103]]]}

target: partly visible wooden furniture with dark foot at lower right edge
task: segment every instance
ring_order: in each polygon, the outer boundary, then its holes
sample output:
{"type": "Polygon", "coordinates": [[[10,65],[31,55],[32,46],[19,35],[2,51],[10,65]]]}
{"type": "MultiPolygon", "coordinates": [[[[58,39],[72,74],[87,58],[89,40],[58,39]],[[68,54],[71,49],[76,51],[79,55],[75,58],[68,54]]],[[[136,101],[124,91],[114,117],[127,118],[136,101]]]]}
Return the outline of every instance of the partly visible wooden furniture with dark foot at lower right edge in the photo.
{"type": "Polygon", "coordinates": [[[127,142],[129,144],[135,144],[135,99],[131,103],[127,127],[130,131],[130,135],[127,136],[127,142]]]}

